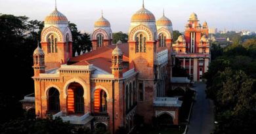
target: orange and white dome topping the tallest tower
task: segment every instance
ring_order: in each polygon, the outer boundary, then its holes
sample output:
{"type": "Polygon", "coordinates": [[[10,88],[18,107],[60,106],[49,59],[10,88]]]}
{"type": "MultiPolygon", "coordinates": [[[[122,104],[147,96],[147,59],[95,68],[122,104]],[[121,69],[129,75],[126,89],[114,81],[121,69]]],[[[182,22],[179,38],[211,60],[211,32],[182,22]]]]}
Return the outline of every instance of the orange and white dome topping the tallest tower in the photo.
{"type": "Polygon", "coordinates": [[[156,22],[156,18],[152,12],[142,7],[133,14],[131,22],[156,22]]]}

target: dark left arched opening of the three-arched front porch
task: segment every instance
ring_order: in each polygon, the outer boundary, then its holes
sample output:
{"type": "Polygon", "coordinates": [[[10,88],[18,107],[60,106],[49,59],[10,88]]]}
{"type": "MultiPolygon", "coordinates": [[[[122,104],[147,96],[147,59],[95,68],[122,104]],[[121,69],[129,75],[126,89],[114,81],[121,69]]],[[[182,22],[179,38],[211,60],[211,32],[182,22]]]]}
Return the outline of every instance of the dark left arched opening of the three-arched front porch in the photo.
{"type": "Polygon", "coordinates": [[[50,88],[48,91],[48,112],[60,111],[60,93],[56,88],[50,88]]]}

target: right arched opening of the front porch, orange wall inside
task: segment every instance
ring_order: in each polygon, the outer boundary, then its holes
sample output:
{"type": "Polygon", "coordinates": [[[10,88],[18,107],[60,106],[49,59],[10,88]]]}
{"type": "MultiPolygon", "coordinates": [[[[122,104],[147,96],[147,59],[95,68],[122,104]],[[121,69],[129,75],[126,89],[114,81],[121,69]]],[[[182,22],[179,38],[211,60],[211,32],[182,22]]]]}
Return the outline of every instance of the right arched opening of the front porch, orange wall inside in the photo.
{"type": "Polygon", "coordinates": [[[102,89],[95,90],[95,112],[107,112],[107,94],[102,89]]]}

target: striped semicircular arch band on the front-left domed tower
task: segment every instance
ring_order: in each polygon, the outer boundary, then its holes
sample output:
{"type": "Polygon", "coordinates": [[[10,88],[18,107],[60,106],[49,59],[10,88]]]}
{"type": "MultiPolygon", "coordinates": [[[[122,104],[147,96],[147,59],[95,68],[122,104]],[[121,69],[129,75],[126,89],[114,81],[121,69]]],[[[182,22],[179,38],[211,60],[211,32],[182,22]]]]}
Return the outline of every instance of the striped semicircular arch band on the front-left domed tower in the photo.
{"type": "Polygon", "coordinates": [[[47,28],[43,29],[43,31],[41,33],[41,41],[47,42],[49,35],[51,35],[52,33],[57,35],[59,42],[63,42],[64,37],[63,37],[62,32],[60,31],[60,29],[58,29],[58,27],[54,27],[54,26],[47,27],[47,28]]]}

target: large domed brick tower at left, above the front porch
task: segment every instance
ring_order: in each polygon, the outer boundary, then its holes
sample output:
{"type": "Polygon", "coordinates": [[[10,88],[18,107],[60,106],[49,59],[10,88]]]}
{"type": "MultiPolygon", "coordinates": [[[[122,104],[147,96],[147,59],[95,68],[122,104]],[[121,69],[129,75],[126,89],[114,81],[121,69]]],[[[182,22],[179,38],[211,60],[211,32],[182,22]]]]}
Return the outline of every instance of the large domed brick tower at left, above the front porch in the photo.
{"type": "Polygon", "coordinates": [[[45,52],[46,69],[54,69],[72,58],[72,33],[68,19],[55,9],[45,18],[41,33],[41,46],[45,52]]]}

